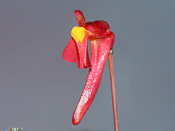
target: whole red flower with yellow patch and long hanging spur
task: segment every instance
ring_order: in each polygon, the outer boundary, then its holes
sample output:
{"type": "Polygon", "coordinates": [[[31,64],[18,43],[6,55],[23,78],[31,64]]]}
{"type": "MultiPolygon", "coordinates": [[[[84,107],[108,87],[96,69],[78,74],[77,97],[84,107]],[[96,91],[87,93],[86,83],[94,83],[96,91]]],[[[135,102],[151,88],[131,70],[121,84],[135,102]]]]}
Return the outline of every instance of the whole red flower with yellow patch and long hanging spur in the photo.
{"type": "Polygon", "coordinates": [[[83,13],[79,10],[75,10],[74,15],[80,27],[73,27],[72,38],[63,51],[63,58],[67,62],[77,63],[81,69],[90,67],[84,90],[73,114],[72,122],[77,125],[96,95],[115,36],[107,22],[97,20],[86,23],[83,13]],[[91,61],[88,55],[88,40],[91,43],[91,61]]]}

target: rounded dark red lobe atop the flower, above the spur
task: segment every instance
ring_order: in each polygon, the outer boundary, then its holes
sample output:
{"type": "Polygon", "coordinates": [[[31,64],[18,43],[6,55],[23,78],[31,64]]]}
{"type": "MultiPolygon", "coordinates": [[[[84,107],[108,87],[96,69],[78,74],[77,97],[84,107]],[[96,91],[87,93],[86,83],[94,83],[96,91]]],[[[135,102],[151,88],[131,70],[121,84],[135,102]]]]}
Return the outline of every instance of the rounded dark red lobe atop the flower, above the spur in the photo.
{"type": "Polygon", "coordinates": [[[110,29],[108,23],[103,20],[87,22],[85,28],[95,35],[104,35],[110,29]]]}

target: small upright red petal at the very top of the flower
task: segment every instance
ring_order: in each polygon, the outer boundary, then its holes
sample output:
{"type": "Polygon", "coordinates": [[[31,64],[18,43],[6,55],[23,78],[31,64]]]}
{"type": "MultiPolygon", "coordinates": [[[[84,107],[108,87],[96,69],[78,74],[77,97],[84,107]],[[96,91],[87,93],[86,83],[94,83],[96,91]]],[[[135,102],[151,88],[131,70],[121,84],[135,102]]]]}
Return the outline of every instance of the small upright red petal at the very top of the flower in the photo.
{"type": "Polygon", "coordinates": [[[83,13],[80,10],[75,10],[74,15],[75,15],[75,18],[77,19],[79,26],[85,27],[86,21],[85,21],[83,13]]]}

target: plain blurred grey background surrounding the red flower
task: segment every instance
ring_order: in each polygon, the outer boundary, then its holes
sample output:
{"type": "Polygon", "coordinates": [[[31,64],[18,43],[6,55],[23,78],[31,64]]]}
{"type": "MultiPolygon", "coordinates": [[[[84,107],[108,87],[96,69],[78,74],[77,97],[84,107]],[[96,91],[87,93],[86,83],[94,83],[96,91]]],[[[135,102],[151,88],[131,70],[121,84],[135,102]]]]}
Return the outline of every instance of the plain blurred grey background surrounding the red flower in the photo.
{"type": "Polygon", "coordinates": [[[78,25],[108,21],[116,35],[120,131],[175,130],[174,0],[1,0],[0,131],[112,131],[108,64],[96,98],[78,126],[72,113],[88,69],[62,59],[78,25]]]}

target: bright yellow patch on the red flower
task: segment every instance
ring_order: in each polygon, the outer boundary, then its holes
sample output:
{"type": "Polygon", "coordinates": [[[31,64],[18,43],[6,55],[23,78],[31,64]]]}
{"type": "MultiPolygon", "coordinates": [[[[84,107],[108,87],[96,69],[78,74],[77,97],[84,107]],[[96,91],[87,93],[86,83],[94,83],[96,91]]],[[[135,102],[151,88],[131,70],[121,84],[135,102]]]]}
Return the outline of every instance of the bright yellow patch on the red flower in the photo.
{"type": "Polygon", "coordinates": [[[75,26],[72,28],[71,36],[76,42],[82,43],[82,41],[87,33],[88,33],[88,31],[85,28],[75,26]]]}

